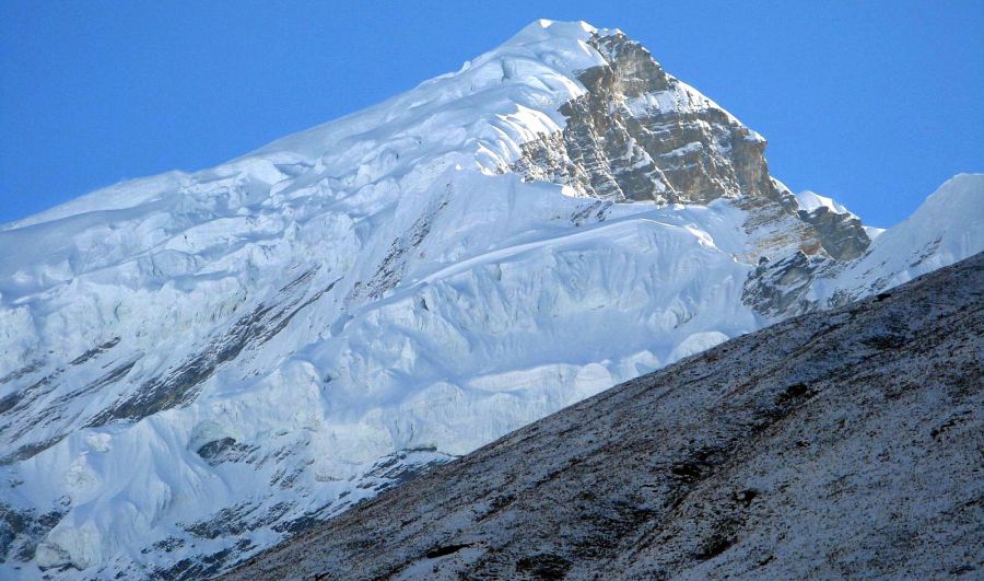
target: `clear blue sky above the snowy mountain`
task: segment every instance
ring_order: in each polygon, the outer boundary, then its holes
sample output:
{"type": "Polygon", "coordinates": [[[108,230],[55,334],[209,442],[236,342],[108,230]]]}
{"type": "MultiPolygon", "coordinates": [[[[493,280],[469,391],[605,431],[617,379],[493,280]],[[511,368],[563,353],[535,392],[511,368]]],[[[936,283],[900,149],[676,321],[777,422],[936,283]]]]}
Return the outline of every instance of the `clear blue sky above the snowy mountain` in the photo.
{"type": "Polygon", "coordinates": [[[867,223],[984,171],[984,1],[0,2],[0,222],[199,170],[411,89],[537,18],[620,27],[867,223]],[[823,4],[823,5],[820,5],[823,4]]]}

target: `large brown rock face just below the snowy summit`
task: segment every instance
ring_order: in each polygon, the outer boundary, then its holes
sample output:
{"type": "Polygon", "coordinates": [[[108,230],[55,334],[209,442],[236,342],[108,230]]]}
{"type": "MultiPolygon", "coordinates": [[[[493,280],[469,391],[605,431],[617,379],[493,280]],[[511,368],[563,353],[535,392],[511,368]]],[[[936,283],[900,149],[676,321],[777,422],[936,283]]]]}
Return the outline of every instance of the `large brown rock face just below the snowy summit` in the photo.
{"type": "Polygon", "coordinates": [[[588,91],[561,107],[564,130],[527,143],[514,171],[614,201],[776,196],[761,136],[625,35],[590,42],[608,65],[581,73],[588,91]]]}

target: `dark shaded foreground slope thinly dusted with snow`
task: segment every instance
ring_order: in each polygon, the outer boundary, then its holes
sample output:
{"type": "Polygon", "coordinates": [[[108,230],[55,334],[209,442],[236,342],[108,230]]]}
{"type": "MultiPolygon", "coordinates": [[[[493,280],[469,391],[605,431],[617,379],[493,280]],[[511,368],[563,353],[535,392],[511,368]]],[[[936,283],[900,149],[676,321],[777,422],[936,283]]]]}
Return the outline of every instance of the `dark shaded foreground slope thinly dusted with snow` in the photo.
{"type": "Polygon", "coordinates": [[[231,577],[979,578],[982,337],[977,254],[623,383],[231,577]]]}

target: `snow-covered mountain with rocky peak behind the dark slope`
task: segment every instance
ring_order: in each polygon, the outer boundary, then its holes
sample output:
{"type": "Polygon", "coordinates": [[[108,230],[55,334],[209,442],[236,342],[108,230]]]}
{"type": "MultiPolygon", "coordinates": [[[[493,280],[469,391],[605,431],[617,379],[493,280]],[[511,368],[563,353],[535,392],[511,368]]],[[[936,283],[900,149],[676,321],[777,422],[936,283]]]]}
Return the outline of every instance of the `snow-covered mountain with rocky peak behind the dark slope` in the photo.
{"type": "Polygon", "coordinates": [[[619,31],[538,21],[0,229],[2,576],[203,576],[566,405],[984,249],[876,231],[619,31]]]}

